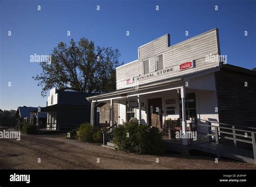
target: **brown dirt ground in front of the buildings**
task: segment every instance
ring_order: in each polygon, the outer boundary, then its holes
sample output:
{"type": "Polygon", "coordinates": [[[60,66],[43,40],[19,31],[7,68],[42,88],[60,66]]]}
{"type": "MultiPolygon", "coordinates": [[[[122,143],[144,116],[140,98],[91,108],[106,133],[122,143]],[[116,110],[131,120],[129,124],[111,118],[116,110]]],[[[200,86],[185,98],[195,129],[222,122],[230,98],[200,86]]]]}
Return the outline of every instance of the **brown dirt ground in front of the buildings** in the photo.
{"type": "Polygon", "coordinates": [[[214,159],[199,154],[137,155],[68,140],[64,134],[0,139],[0,169],[256,169],[253,164],[227,159],[215,163],[214,159]]]}

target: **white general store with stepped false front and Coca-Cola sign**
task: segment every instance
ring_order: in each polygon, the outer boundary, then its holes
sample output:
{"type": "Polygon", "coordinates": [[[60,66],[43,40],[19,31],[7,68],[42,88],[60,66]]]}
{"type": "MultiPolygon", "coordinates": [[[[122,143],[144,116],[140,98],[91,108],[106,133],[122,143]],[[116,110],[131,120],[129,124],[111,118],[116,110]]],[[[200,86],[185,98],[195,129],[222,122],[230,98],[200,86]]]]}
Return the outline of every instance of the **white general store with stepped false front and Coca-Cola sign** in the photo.
{"type": "Polygon", "coordinates": [[[91,123],[112,126],[134,117],[161,129],[165,120],[177,120],[184,131],[191,120],[255,124],[255,71],[226,60],[218,28],[176,45],[163,35],[140,46],[137,60],[116,68],[116,91],[87,98],[91,123]]]}

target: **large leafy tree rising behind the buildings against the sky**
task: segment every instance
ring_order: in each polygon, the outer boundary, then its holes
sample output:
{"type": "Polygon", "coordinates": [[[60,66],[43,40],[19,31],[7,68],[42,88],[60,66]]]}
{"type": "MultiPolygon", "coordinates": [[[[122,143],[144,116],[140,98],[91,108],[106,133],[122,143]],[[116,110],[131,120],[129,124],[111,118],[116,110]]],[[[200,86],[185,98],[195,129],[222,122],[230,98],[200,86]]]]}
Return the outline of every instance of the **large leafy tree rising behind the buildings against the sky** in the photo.
{"type": "MultiPolygon", "coordinates": [[[[95,46],[81,38],[70,45],[60,42],[53,48],[51,62],[41,62],[42,73],[32,78],[39,81],[41,95],[57,87],[59,90],[104,93],[116,89],[116,67],[120,53],[112,47],[95,46]]],[[[123,64],[123,63],[122,63],[123,64]]]]}

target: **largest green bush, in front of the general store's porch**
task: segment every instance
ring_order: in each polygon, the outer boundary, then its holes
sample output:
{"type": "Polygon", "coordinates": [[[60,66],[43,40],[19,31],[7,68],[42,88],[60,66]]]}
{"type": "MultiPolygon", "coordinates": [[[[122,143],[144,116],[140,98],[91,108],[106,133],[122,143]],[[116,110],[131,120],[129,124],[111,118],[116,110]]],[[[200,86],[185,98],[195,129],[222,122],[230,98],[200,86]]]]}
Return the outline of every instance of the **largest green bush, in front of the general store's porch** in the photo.
{"type": "Polygon", "coordinates": [[[113,133],[113,141],[120,150],[138,154],[164,154],[165,143],[158,128],[150,125],[139,125],[131,121],[117,127],[113,133]]]}

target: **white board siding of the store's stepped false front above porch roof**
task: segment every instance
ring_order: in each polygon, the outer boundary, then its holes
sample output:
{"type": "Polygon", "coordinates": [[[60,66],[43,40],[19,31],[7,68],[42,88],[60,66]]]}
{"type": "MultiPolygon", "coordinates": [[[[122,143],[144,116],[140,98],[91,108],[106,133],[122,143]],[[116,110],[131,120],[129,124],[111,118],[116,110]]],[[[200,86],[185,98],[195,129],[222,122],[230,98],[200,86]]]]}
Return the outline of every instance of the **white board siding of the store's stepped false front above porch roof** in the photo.
{"type": "MultiPolygon", "coordinates": [[[[152,81],[160,81],[165,78],[172,78],[191,74],[197,71],[214,68],[219,66],[219,61],[206,62],[206,55],[218,55],[218,31],[212,30],[197,37],[185,40],[174,46],[168,46],[167,35],[139,47],[139,59],[116,69],[117,90],[126,87],[125,80],[134,78],[139,85],[150,83],[152,81]],[[163,68],[173,68],[170,73],[160,74],[148,78],[140,78],[143,76],[143,60],[149,59],[149,68],[152,73],[161,73],[162,70],[156,71],[156,55],[163,53],[163,68]],[[178,66],[181,63],[194,61],[195,67],[184,71],[179,71],[178,66]]],[[[159,67],[160,68],[160,67],[159,67]]]]}

